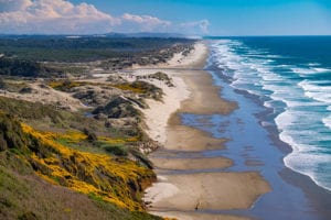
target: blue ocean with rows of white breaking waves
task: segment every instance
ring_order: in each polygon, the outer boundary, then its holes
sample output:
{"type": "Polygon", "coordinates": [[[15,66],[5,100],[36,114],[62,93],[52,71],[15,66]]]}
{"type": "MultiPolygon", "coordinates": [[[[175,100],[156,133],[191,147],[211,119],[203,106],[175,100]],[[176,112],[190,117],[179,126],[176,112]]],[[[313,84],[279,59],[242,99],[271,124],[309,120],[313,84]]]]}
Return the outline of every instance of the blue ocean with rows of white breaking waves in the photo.
{"type": "Polygon", "coordinates": [[[292,152],[284,163],[331,190],[331,36],[214,38],[214,62],[231,86],[271,109],[292,152]]]}

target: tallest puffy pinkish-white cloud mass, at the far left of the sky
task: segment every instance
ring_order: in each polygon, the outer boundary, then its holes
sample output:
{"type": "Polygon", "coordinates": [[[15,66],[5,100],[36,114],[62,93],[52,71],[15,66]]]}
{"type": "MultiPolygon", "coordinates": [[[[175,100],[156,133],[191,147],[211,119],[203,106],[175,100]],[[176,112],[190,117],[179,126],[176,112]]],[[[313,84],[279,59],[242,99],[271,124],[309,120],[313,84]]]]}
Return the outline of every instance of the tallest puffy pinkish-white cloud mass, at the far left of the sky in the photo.
{"type": "Polygon", "coordinates": [[[0,0],[0,7],[2,33],[105,33],[120,23],[92,4],[64,0],[0,0]]]}

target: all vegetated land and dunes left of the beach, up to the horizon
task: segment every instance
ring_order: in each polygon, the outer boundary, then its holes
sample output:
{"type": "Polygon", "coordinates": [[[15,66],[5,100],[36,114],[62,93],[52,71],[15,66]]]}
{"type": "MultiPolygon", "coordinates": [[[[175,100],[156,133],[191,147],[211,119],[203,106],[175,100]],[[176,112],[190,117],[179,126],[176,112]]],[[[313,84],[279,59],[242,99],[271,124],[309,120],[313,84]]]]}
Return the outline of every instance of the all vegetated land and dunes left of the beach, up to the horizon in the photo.
{"type": "Polygon", "coordinates": [[[143,190],[157,180],[145,132],[152,80],[131,67],[193,50],[182,38],[0,36],[0,219],[161,219],[143,190]]]}

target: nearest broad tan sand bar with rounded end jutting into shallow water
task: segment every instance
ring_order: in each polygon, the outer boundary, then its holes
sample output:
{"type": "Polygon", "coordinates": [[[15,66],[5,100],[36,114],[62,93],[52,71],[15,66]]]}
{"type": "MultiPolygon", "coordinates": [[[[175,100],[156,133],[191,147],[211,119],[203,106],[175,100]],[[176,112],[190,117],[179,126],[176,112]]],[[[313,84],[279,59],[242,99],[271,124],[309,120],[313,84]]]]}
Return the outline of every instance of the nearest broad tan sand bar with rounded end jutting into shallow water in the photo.
{"type": "Polygon", "coordinates": [[[269,185],[254,172],[178,174],[163,178],[177,190],[168,198],[160,198],[158,191],[148,189],[147,194],[154,199],[152,211],[247,209],[269,191],[269,185]]]}

